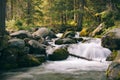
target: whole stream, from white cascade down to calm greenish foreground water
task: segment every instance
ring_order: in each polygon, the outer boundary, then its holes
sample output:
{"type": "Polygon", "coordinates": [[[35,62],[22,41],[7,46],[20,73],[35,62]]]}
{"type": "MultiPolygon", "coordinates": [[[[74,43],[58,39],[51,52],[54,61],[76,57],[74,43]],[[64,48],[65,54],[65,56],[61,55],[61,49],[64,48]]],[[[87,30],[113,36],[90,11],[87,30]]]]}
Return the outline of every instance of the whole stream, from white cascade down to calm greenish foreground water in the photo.
{"type": "MultiPolygon", "coordinates": [[[[88,38],[87,38],[88,39],[88,38]]],[[[50,42],[47,53],[65,45],[50,42]]],[[[106,80],[105,71],[111,62],[105,61],[111,51],[101,46],[101,40],[90,39],[84,43],[68,46],[71,54],[83,56],[92,61],[69,56],[63,61],[47,61],[40,66],[14,69],[0,73],[0,80],[106,80]]]]}

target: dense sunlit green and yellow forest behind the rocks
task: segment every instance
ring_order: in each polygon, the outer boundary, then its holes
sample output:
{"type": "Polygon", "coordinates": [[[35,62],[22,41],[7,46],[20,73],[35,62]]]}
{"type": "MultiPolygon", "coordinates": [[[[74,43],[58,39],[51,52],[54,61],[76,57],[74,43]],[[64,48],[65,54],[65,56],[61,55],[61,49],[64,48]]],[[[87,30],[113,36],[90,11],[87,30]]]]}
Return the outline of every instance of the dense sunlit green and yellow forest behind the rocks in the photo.
{"type": "Polygon", "coordinates": [[[89,33],[101,23],[104,31],[117,27],[119,20],[120,0],[8,0],[6,7],[9,31],[45,26],[89,33]]]}

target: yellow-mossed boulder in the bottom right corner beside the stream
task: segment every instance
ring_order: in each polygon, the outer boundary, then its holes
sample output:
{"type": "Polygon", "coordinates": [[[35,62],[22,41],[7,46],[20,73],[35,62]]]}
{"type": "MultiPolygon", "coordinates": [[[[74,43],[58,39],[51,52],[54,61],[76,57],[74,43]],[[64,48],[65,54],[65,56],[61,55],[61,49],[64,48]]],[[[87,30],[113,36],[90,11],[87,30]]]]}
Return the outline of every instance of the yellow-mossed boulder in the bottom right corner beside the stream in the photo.
{"type": "Polygon", "coordinates": [[[107,71],[107,80],[120,80],[120,51],[115,60],[109,65],[107,71]]]}

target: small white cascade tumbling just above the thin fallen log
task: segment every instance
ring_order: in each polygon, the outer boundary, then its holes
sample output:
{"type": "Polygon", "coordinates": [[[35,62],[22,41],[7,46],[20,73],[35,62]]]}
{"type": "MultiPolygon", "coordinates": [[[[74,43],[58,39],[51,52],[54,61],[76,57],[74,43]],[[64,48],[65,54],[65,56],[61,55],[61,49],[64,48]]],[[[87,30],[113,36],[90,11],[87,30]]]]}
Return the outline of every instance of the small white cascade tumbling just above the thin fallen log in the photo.
{"type": "Polygon", "coordinates": [[[91,39],[85,43],[72,44],[68,47],[71,54],[82,56],[91,60],[105,60],[111,51],[101,46],[100,39],[91,39]]]}

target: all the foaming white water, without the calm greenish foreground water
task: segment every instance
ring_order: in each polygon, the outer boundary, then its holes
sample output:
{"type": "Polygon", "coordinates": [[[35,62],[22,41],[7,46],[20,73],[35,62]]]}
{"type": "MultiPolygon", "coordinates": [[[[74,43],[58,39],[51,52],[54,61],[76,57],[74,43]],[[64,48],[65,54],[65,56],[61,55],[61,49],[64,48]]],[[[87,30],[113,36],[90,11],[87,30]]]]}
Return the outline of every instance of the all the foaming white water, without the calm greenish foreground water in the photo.
{"type": "MultiPolygon", "coordinates": [[[[55,45],[56,47],[49,47],[47,52],[51,54],[55,49],[65,45],[55,45]]],[[[64,61],[50,61],[45,65],[46,70],[55,72],[74,72],[79,70],[84,71],[105,71],[110,62],[105,61],[106,57],[110,55],[111,51],[101,46],[100,39],[91,39],[85,43],[79,42],[78,44],[71,44],[68,47],[71,54],[86,57],[93,61],[69,57],[64,61]]]]}

